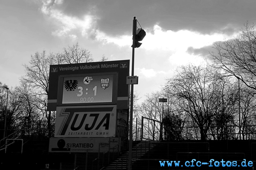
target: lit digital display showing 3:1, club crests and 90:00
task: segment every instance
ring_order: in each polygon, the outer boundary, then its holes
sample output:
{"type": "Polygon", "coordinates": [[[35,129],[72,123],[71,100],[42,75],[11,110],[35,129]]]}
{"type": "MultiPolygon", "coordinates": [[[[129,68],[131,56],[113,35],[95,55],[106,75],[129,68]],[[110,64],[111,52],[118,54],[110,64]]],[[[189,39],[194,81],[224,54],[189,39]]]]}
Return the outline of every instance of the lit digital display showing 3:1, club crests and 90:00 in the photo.
{"type": "Polygon", "coordinates": [[[90,105],[113,102],[114,82],[113,74],[63,77],[60,104],[90,105]]]}

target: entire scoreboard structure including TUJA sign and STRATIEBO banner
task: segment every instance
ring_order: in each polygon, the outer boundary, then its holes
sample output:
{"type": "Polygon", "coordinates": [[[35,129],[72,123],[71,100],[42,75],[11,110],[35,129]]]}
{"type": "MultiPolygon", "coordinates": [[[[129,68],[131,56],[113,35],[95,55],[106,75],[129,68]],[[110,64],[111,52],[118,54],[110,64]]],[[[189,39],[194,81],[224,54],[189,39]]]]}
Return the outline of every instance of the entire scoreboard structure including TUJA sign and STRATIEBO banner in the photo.
{"type": "Polygon", "coordinates": [[[120,129],[127,129],[129,68],[130,60],[50,65],[47,111],[56,117],[49,151],[98,152],[104,141],[127,137],[120,129]],[[96,147],[86,150],[87,142],[96,147]]]}

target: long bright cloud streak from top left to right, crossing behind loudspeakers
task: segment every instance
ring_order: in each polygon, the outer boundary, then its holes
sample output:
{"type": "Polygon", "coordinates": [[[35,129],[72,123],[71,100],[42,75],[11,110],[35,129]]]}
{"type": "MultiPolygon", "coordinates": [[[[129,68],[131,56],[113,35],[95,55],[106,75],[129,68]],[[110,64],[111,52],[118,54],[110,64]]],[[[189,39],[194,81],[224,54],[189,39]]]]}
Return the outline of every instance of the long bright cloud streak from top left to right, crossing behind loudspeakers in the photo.
{"type": "MultiPolygon", "coordinates": [[[[63,0],[42,0],[42,13],[53,20],[54,24],[58,27],[58,29],[52,32],[52,35],[58,37],[69,36],[72,39],[76,39],[78,37],[77,32],[80,32],[82,36],[95,39],[102,44],[116,44],[119,47],[130,47],[132,45],[132,35],[108,35],[104,30],[96,28],[97,21],[99,20],[96,15],[92,15],[90,11],[84,14],[83,17],[65,14],[60,8],[63,3],[63,0]]],[[[145,28],[146,36],[141,41],[142,46],[140,49],[151,51],[164,50],[173,54],[188,52],[189,54],[194,53],[196,55],[201,52],[200,55],[204,55],[206,51],[203,51],[204,49],[201,48],[210,46],[215,41],[222,41],[224,38],[232,38],[235,33],[231,25],[223,26],[219,30],[220,32],[201,34],[191,30],[164,30],[159,24],[155,24],[153,27],[145,28]]]]}

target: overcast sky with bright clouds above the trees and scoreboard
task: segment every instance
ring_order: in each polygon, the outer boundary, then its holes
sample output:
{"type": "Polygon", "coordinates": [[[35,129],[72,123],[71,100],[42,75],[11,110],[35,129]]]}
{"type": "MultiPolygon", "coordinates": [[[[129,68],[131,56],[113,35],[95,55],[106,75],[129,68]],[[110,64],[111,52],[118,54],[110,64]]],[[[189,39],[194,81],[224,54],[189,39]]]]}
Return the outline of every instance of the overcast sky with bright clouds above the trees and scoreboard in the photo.
{"type": "Polygon", "coordinates": [[[136,17],[146,36],[135,49],[134,90],[144,99],[177,66],[200,64],[213,42],[255,23],[255,9],[255,0],[0,0],[0,81],[19,86],[31,54],[76,42],[95,61],[131,60],[136,17]]]}

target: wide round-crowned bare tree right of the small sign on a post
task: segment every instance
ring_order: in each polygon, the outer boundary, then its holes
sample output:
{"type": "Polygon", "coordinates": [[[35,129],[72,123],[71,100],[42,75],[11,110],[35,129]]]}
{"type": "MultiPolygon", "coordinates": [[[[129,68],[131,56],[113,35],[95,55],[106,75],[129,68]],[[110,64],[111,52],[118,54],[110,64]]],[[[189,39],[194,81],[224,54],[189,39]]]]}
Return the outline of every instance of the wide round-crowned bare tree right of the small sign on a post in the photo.
{"type": "Polygon", "coordinates": [[[210,126],[221,112],[221,102],[217,101],[224,95],[226,81],[218,74],[211,67],[187,65],[181,66],[173,78],[167,79],[166,88],[180,101],[178,111],[189,116],[186,119],[191,120],[192,126],[199,127],[201,140],[207,138],[210,126]]]}

